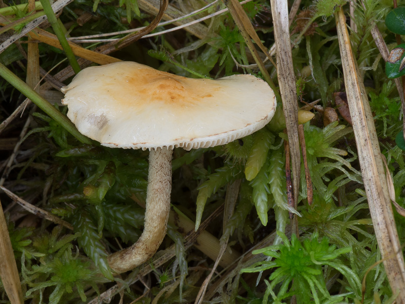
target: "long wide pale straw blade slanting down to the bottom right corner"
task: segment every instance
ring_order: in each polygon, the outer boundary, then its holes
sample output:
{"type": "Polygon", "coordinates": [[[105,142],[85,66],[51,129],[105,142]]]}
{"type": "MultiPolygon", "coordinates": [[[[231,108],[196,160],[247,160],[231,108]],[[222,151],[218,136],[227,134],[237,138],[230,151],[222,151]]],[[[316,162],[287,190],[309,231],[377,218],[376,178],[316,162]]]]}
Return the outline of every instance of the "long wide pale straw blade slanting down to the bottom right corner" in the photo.
{"type": "Polygon", "coordinates": [[[399,291],[398,303],[405,303],[405,267],[390,204],[379,142],[373,115],[362,81],[358,79],[346,17],[342,9],[335,13],[343,75],[353,121],[358,159],[369,201],[377,242],[384,260],[384,267],[393,293],[399,291]]]}

